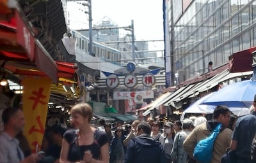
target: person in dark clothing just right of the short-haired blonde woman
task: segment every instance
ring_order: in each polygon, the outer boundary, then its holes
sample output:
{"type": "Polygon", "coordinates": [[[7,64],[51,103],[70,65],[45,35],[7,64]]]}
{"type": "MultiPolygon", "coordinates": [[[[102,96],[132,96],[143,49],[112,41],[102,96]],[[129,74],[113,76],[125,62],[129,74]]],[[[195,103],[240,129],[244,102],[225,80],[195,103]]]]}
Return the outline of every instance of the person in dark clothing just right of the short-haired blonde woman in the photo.
{"type": "Polygon", "coordinates": [[[123,144],[125,139],[122,127],[117,127],[115,137],[112,139],[109,153],[109,163],[123,163],[126,146],[123,144]]]}

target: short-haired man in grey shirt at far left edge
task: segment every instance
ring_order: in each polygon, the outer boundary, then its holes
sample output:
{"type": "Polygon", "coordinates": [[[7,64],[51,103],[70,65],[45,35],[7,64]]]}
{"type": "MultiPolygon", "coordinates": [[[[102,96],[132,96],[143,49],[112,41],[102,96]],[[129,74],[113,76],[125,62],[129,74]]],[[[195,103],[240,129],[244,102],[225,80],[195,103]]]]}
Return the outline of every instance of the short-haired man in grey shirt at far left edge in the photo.
{"type": "Polygon", "coordinates": [[[2,114],[4,130],[0,133],[0,162],[4,163],[33,163],[36,162],[37,154],[31,154],[24,159],[24,153],[20,150],[19,141],[15,136],[23,131],[25,118],[19,108],[6,108],[2,114]]]}

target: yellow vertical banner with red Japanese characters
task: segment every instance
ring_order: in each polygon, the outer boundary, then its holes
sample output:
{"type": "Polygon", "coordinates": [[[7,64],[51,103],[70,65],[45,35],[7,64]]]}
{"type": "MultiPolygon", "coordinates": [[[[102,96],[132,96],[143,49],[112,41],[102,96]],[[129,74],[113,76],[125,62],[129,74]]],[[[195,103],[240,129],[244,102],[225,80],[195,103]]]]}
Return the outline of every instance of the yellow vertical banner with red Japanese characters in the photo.
{"type": "Polygon", "coordinates": [[[22,110],[26,125],[24,135],[33,153],[40,150],[44,137],[48,102],[51,92],[51,78],[24,78],[22,81],[22,110]]]}

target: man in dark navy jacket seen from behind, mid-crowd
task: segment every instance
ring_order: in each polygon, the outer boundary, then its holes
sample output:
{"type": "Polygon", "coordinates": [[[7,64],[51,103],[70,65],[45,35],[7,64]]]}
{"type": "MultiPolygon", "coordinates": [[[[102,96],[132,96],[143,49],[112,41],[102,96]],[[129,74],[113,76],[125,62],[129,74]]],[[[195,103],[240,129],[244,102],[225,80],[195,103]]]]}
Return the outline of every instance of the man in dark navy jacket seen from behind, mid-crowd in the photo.
{"type": "Polygon", "coordinates": [[[138,125],[136,138],[132,138],[128,143],[125,163],[166,162],[163,146],[150,137],[150,133],[151,127],[147,122],[138,125]]]}

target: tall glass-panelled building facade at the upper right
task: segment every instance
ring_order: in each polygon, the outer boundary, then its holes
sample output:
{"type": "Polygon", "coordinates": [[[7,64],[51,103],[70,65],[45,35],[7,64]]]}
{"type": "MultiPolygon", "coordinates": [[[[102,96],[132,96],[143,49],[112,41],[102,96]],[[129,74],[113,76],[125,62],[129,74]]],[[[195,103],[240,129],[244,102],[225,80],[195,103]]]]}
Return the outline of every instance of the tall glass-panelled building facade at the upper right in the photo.
{"type": "Polygon", "coordinates": [[[186,81],[255,46],[255,4],[250,0],[169,1],[173,73],[183,74],[186,81]]]}

